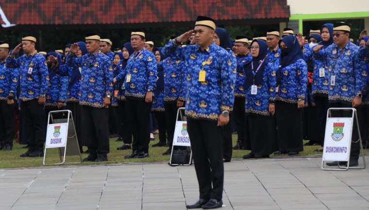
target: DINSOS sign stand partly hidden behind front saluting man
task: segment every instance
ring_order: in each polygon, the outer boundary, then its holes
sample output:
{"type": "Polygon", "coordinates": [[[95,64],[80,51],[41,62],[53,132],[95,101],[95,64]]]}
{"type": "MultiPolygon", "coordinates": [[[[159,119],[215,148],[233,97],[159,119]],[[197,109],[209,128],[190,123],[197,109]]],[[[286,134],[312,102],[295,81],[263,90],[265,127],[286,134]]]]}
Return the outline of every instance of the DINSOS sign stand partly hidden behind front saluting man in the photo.
{"type": "Polygon", "coordinates": [[[176,127],[174,130],[174,136],[173,136],[172,151],[170,152],[170,160],[169,160],[170,166],[191,165],[192,164],[191,143],[190,143],[190,138],[188,137],[187,121],[185,119],[186,117],[183,115],[183,111],[185,111],[185,108],[183,107],[179,108],[177,111],[177,120],[176,120],[176,127]],[[180,120],[178,120],[178,117],[180,117],[180,120]],[[190,152],[190,157],[189,157],[187,164],[172,163],[172,155],[173,155],[174,146],[186,147],[185,149],[190,152]]]}

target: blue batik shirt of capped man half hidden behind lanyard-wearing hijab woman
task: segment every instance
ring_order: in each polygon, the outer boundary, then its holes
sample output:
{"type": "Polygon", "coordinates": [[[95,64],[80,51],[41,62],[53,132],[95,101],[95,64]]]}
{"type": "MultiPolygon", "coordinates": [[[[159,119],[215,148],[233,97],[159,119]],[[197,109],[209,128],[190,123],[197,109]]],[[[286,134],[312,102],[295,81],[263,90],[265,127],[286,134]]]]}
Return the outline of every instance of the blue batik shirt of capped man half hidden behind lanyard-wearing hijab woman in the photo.
{"type": "Polygon", "coordinates": [[[246,90],[244,90],[245,83],[245,72],[243,70],[243,65],[246,61],[252,60],[252,56],[247,54],[246,56],[236,56],[237,60],[237,72],[236,72],[236,81],[235,81],[235,97],[246,97],[246,90]]]}

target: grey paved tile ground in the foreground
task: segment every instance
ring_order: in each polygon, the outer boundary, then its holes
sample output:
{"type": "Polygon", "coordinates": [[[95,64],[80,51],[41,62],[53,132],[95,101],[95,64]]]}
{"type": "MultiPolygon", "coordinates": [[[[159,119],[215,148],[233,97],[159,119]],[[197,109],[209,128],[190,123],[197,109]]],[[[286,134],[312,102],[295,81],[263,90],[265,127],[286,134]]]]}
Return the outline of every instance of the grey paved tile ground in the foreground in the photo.
{"type": "MultiPolygon", "coordinates": [[[[324,171],[320,165],[321,158],[225,163],[222,210],[369,209],[369,168],[324,171]]],[[[182,210],[198,197],[193,165],[0,170],[1,210],[182,210]]]]}

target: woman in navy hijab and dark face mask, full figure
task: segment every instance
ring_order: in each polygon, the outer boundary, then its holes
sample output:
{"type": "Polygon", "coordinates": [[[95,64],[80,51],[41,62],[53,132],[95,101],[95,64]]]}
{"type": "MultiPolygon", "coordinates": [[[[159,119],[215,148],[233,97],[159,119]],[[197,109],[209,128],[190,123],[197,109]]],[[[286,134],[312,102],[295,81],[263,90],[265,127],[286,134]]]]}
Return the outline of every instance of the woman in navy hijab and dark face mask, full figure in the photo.
{"type": "Polygon", "coordinates": [[[307,85],[307,65],[295,36],[285,36],[278,44],[281,58],[276,73],[278,90],[275,110],[279,152],[275,154],[297,155],[303,151],[302,108],[307,85]]]}

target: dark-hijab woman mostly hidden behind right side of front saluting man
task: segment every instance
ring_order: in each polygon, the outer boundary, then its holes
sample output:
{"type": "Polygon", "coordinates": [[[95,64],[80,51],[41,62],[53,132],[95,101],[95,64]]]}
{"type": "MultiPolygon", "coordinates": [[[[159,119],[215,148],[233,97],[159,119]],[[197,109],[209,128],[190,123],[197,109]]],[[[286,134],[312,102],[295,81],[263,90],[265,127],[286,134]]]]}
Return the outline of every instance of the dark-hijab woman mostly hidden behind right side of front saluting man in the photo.
{"type": "MultiPolygon", "coordinates": [[[[232,51],[231,39],[229,38],[228,31],[222,28],[216,28],[214,34],[214,42],[216,45],[227,50],[231,59],[231,65],[233,69],[233,84],[236,82],[237,72],[237,60],[235,53],[232,51]]],[[[233,119],[232,112],[229,113],[230,119],[233,119]]],[[[223,126],[223,162],[230,162],[232,158],[232,120],[223,126]]]]}

